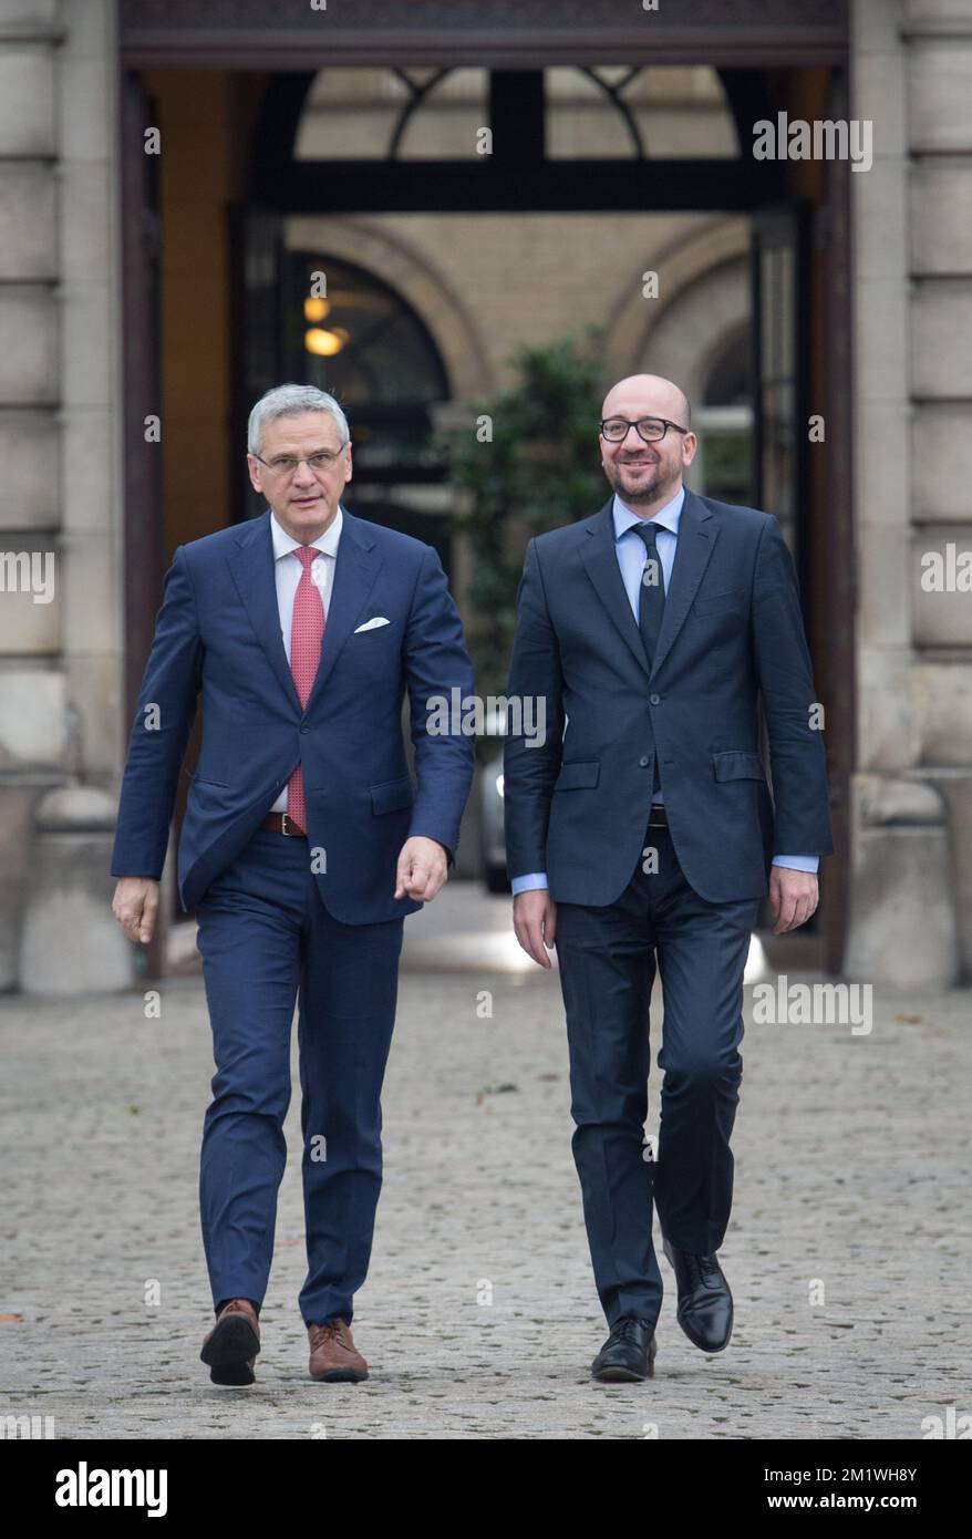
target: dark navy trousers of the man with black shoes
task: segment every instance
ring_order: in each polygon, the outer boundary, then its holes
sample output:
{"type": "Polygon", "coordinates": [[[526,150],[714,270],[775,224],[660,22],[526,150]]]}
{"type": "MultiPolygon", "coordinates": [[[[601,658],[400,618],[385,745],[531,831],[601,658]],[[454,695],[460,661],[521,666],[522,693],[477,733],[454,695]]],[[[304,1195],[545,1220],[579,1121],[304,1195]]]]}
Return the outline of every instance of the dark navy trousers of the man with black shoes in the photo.
{"type": "Polygon", "coordinates": [[[571,1059],[572,1148],[598,1297],[609,1325],[652,1324],[661,1233],[680,1250],[723,1244],[732,1207],[729,1137],[743,1059],[743,971],[758,899],[711,903],[686,882],[671,833],[649,826],[621,897],[557,903],[557,959],[571,1059]],[[661,976],[657,1160],[647,1160],[649,1002],[661,976]]]}

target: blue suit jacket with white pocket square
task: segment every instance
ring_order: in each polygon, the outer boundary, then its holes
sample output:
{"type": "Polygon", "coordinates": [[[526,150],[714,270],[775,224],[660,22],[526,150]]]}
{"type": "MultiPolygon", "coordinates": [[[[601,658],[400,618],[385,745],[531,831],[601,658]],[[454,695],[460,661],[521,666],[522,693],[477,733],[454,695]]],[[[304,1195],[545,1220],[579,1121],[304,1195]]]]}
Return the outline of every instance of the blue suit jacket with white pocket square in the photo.
{"type": "Polygon", "coordinates": [[[178,842],[183,908],[243,850],[300,762],[328,911],[352,925],[414,913],[420,902],[392,896],[401,845],[424,834],[452,854],[472,782],[472,739],[424,729],[429,696],[452,688],[471,693],[472,666],[438,556],[421,540],[343,509],[306,709],[280,629],[269,509],[180,545],[132,725],[112,874],[161,874],[201,693],[203,742],[178,842]],[[391,623],[355,634],[375,616],[391,623]],[[401,733],[406,688],[417,788],[401,733]]]}

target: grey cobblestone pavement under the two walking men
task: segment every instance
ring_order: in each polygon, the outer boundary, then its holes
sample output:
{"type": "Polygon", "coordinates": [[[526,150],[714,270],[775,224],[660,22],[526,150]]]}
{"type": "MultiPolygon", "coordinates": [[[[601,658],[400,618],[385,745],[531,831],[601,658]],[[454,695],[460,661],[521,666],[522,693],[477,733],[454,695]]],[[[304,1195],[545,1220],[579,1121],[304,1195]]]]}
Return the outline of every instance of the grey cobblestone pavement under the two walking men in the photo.
{"type": "MultiPolygon", "coordinates": [[[[306,1376],[294,1033],[263,1351],[257,1384],[231,1391],[198,1360],[212,1320],[200,980],[166,983],[160,1019],[140,993],[8,999],[0,1419],[54,1417],[69,1439],[920,1439],[924,1417],[972,1413],[970,1005],[967,993],[875,991],[869,1034],[747,1025],[721,1251],[732,1344],[704,1357],[686,1340],[661,1259],[655,1379],[609,1387],[588,1373],[604,1322],[557,976],[404,971],[384,1191],[355,1300],[372,1377],[306,1376]],[[152,1279],[158,1302],[146,1302],[152,1279]]],[[[652,1060],[658,1045],[655,1033],[652,1060]]],[[[658,1077],[652,1062],[649,1131],[658,1077]]]]}

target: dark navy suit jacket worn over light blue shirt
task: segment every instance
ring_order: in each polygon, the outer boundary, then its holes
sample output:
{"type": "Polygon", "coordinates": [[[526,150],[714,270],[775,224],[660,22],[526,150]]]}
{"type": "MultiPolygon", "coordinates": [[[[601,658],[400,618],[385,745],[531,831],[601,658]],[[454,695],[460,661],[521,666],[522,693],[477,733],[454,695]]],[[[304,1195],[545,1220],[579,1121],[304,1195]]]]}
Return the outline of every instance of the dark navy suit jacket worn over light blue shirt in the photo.
{"type": "Polygon", "coordinates": [[[646,843],[657,753],[689,885],[709,902],[760,897],[774,854],[834,851],[791,554],[771,514],[686,491],[649,668],[612,500],[526,553],[508,693],[544,697],[546,740],[506,740],[509,876],[546,871],[564,903],[615,902],[646,843]]]}

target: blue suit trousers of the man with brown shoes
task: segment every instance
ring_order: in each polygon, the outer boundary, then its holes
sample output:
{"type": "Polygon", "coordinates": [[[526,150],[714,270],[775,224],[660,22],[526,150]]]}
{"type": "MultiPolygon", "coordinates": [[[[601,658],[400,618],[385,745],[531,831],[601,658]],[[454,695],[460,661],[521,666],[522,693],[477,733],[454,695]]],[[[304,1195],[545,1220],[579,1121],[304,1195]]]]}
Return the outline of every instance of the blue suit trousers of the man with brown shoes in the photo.
{"type": "Polygon", "coordinates": [[[305,1324],[351,1322],[381,1190],[381,1082],[404,917],[343,925],[321,902],[305,837],[258,830],[195,906],[212,1025],[200,1217],[214,1305],[263,1302],[286,1165],[298,1005],[305,1324]]]}

